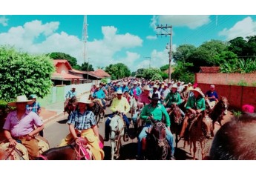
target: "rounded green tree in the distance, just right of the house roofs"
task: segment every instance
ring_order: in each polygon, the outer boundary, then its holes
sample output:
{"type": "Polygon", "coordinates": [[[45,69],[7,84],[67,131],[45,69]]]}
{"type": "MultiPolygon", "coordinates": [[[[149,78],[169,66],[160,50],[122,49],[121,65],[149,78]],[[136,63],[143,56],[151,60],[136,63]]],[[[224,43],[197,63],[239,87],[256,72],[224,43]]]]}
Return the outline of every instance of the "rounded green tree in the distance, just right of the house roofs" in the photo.
{"type": "Polygon", "coordinates": [[[122,63],[105,67],[105,72],[111,75],[111,79],[122,79],[123,77],[131,76],[131,70],[122,63]]]}

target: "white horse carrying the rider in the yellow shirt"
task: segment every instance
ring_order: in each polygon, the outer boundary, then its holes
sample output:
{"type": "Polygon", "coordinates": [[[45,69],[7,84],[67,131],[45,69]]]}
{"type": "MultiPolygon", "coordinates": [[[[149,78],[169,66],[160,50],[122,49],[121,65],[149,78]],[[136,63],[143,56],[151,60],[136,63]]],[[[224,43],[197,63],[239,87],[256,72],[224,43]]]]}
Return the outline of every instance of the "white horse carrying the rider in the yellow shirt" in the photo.
{"type": "Polygon", "coordinates": [[[121,114],[116,114],[113,118],[108,118],[111,120],[109,127],[111,130],[111,159],[119,158],[119,149],[122,145],[121,137],[125,134],[125,123],[122,119],[121,114]]]}

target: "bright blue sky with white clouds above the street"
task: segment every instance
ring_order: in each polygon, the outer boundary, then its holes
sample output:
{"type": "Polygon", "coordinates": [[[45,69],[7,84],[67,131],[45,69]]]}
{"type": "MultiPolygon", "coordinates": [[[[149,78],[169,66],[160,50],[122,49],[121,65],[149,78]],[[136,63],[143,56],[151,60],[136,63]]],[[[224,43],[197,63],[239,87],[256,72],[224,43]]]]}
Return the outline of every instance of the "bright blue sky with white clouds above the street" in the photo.
{"type": "MultiPolygon", "coordinates": [[[[0,44],[28,53],[63,52],[84,62],[83,15],[2,15],[0,44]]],[[[256,34],[252,15],[88,15],[86,60],[93,67],[122,62],[130,70],[168,64],[169,36],[158,36],[157,24],[172,25],[172,49],[198,47],[210,39],[229,41],[256,34]],[[151,57],[151,59],[145,58],[151,57]]],[[[162,30],[162,33],[166,33],[162,30]]]]}

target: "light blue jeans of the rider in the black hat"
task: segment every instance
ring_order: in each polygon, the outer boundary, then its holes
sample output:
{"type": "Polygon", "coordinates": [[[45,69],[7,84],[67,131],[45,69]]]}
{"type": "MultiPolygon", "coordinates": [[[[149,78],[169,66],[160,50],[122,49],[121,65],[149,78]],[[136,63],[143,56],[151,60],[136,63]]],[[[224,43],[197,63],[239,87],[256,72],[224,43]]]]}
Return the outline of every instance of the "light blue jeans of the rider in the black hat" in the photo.
{"type": "MultiPolygon", "coordinates": [[[[138,156],[141,156],[142,138],[145,138],[147,136],[147,133],[145,131],[151,127],[152,127],[151,124],[146,124],[145,127],[140,132],[139,139],[138,139],[138,150],[137,150],[138,156]]],[[[168,145],[170,145],[170,148],[171,148],[171,156],[174,156],[174,136],[172,135],[171,131],[168,131],[166,127],[165,127],[165,132],[166,132],[166,139],[167,139],[168,145]]]]}

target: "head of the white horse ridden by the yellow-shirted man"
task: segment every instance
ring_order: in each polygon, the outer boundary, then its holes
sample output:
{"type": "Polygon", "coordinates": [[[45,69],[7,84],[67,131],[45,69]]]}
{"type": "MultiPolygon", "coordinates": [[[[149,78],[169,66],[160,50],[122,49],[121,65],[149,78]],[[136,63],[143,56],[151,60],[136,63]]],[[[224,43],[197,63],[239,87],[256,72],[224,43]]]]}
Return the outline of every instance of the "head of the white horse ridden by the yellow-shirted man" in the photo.
{"type": "Polygon", "coordinates": [[[121,136],[124,134],[124,122],[122,121],[122,117],[119,115],[116,115],[111,119],[111,122],[109,123],[110,131],[111,131],[111,140],[114,140],[116,135],[121,134],[121,136]],[[120,133],[121,132],[121,133],[120,133]]]}

